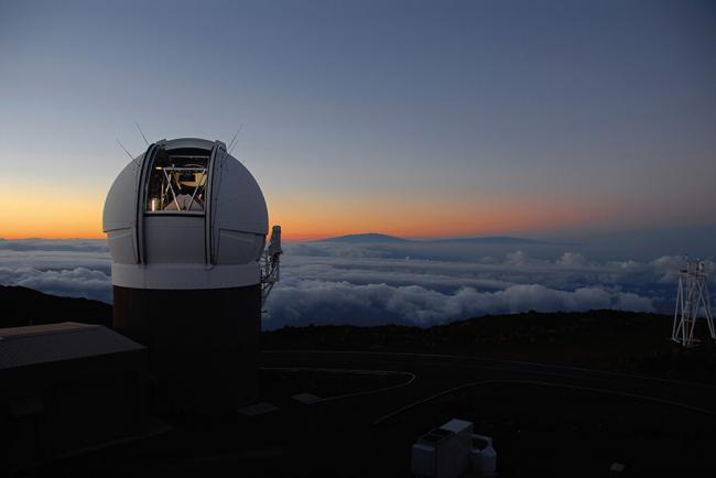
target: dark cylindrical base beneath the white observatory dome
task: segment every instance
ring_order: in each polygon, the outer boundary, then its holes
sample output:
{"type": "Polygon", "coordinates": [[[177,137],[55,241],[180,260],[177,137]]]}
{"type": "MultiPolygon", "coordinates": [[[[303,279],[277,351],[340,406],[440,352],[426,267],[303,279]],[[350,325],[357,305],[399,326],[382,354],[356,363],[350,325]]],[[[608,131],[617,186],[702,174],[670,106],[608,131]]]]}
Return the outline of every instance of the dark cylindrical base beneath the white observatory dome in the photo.
{"type": "Polygon", "coordinates": [[[113,286],[113,325],[149,348],[155,408],[209,412],[258,395],[259,284],[232,289],[113,286]]]}

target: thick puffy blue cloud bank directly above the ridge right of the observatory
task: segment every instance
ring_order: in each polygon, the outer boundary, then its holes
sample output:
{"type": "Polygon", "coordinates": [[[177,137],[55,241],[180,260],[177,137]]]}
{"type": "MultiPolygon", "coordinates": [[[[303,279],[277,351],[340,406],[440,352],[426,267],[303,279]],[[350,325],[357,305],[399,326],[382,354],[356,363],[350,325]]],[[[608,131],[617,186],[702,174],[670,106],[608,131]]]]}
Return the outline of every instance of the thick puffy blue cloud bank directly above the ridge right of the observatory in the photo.
{"type": "Polygon", "coordinates": [[[558,291],[540,284],[519,284],[496,292],[460,287],[445,294],[420,285],[304,280],[275,290],[265,325],[270,328],[284,324],[427,326],[481,314],[594,308],[652,312],[653,305],[649,297],[600,286],[558,291]]]}

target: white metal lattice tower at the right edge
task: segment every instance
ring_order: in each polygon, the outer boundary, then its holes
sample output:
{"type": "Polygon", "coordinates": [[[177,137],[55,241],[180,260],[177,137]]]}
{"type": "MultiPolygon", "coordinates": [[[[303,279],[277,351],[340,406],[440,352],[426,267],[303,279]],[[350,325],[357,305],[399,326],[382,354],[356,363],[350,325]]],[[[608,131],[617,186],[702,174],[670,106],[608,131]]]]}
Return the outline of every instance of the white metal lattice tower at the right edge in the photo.
{"type": "Polygon", "coordinates": [[[694,337],[694,329],[702,309],[710,338],[716,340],[707,279],[705,261],[690,261],[686,258],[686,269],[679,271],[679,292],[671,339],[684,347],[699,343],[699,339],[694,337]]]}

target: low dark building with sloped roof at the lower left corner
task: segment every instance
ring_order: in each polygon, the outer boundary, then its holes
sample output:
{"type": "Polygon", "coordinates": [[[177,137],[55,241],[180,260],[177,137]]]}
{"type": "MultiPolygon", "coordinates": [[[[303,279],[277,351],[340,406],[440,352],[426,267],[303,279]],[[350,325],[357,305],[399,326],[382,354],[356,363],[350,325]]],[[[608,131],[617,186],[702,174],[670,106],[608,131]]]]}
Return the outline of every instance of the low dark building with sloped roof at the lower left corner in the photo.
{"type": "Polygon", "coordinates": [[[142,436],[145,352],[98,325],[0,329],[0,476],[142,436]]]}

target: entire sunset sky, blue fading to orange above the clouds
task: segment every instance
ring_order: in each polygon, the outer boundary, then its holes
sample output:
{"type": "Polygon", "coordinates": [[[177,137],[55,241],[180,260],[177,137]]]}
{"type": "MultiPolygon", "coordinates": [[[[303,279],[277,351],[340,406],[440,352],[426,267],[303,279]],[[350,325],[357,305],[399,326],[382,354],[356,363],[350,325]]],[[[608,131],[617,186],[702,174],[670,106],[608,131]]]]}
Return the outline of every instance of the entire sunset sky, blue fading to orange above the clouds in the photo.
{"type": "Polygon", "coordinates": [[[0,237],[101,237],[150,140],[227,143],[286,238],[716,222],[704,1],[0,0],[0,237]]]}

